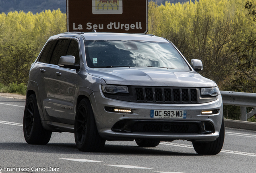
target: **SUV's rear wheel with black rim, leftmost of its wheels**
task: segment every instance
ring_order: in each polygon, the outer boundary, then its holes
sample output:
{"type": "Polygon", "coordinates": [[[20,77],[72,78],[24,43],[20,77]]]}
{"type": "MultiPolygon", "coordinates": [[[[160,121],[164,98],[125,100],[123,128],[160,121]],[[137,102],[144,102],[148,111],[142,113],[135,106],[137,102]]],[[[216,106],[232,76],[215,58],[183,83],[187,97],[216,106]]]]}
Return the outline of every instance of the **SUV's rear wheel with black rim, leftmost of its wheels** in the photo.
{"type": "Polygon", "coordinates": [[[46,145],[52,136],[52,131],[43,129],[35,95],[30,95],[26,101],[23,116],[23,134],[28,144],[46,145]]]}

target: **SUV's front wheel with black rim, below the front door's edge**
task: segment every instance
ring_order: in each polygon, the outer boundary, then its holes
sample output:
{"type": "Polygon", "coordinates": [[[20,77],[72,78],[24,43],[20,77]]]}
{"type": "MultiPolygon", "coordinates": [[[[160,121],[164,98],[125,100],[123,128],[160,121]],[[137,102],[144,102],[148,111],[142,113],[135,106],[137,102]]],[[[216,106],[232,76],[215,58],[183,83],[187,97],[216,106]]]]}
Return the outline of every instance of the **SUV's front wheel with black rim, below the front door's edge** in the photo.
{"type": "Polygon", "coordinates": [[[104,139],[99,136],[91,103],[88,99],[83,99],[76,111],[74,137],[76,147],[80,151],[97,152],[101,151],[105,145],[104,139]]]}

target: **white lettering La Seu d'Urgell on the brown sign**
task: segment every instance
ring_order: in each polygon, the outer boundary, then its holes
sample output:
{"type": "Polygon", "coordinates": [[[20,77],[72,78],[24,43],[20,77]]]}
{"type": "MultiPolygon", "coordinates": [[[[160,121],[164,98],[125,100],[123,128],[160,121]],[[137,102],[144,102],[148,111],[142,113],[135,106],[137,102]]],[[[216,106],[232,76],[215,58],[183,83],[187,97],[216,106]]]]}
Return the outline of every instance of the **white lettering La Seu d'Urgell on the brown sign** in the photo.
{"type": "MultiPolygon", "coordinates": [[[[130,30],[130,29],[142,29],[141,22],[136,22],[134,24],[120,24],[120,22],[110,22],[107,24],[107,26],[104,26],[104,24],[92,24],[91,22],[87,22],[86,29],[87,30],[103,30],[104,28],[107,28],[108,30],[130,30]]],[[[75,24],[73,23],[73,30],[83,30],[83,25],[81,24],[75,24]]]]}

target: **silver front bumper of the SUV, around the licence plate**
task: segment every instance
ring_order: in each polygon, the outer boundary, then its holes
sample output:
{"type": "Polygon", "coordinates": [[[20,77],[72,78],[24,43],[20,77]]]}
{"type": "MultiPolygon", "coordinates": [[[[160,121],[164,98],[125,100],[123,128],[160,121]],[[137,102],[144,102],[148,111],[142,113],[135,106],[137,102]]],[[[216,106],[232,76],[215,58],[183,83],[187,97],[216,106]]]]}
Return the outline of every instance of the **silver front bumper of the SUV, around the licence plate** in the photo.
{"type": "Polygon", "coordinates": [[[90,95],[95,122],[99,135],[108,141],[132,141],[134,139],[151,139],[156,141],[188,140],[192,142],[214,141],[219,137],[219,131],[223,119],[223,103],[221,95],[218,99],[202,104],[152,104],[152,103],[132,103],[106,98],[101,92],[94,92],[90,95]],[[119,107],[132,110],[131,114],[114,113],[106,111],[105,107],[119,107]],[[212,115],[201,115],[202,111],[218,110],[212,115]],[[156,119],[151,118],[151,110],[180,110],[186,111],[186,119],[156,119]],[[126,125],[120,129],[113,129],[118,122],[159,122],[172,124],[198,124],[198,132],[175,132],[175,131],[134,131],[127,130],[126,125]],[[205,133],[204,122],[211,123],[214,131],[205,133]]]}

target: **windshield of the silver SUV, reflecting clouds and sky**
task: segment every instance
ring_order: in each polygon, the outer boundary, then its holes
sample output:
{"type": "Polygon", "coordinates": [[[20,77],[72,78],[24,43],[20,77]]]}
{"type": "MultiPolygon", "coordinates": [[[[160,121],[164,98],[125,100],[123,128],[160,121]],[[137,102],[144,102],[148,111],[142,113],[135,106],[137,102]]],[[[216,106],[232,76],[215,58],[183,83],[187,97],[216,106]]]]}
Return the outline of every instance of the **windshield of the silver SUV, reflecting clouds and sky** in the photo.
{"type": "Polygon", "coordinates": [[[85,43],[87,65],[91,68],[143,66],[190,70],[170,43],[130,40],[85,43]]]}

